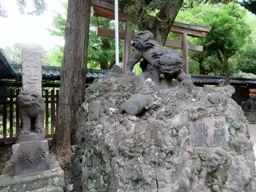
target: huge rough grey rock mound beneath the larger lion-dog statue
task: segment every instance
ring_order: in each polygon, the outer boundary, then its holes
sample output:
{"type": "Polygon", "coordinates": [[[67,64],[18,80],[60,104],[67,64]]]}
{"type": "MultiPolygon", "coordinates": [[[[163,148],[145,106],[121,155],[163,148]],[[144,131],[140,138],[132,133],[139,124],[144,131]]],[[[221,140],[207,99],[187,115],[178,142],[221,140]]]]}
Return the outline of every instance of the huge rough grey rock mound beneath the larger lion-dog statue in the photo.
{"type": "Polygon", "coordinates": [[[256,191],[255,157],[231,86],[155,92],[106,74],[86,90],[72,181],[83,191],[256,191]]]}

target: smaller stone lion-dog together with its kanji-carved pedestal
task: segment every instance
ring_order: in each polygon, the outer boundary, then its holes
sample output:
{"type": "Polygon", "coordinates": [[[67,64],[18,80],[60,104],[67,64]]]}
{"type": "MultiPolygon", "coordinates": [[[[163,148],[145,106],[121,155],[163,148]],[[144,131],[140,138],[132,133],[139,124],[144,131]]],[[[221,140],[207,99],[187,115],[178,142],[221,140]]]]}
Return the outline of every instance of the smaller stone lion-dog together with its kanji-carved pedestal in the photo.
{"type": "Polygon", "coordinates": [[[17,176],[49,170],[44,99],[36,91],[23,90],[18,95],[18,102],[22,130],[16,144],[12,146],[13,174],[17,176]]]}

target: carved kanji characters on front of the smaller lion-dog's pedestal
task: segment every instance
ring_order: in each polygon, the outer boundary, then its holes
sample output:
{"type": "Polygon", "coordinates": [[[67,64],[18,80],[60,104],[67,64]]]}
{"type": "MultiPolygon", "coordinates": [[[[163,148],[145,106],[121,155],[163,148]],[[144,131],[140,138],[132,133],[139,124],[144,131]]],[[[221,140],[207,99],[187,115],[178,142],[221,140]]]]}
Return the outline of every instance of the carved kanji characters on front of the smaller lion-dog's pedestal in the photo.
{"type": "Polygon", "coordinates": [[[40,164],[46,159],[46,152],[38,148],[34,153],[20,151],[18,156],[18,167],[30,166],[32,164],[40,164]]]}

